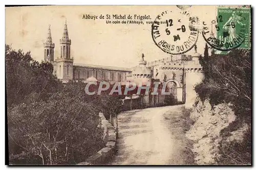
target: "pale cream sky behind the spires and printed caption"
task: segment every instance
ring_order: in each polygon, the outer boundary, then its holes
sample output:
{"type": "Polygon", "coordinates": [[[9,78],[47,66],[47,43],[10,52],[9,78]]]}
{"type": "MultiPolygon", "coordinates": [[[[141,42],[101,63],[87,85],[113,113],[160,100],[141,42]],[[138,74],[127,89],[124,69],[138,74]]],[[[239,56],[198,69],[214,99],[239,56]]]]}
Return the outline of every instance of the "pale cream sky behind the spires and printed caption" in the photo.
{"type": "MultiPolygon", "coordinates": [[[[169,57],[155,45],[151,35],[153,21],[165,10],[180,10],[177,6],[38,6],[6,8],[6,44],[14,50],[31,52],[33,59],[44,59],[43,43],[51,25],[55,43],[54,57],[60,56],[59,39],[67,19],[71,56],[74,63],[130,68],[136,66],[144,53],[150,62],[169,57]],[[83,15],[150,15],[144,25],[106,24],[106,19],[82,19],[83,15]]],[[[215,19],[216,6],[191,6],[192,16],[209,23],[215,19]]],[[[112,19],[112,21],[115,19],[112,19]]],[[[205,41],[199,34],[197,52],[203,54],[205,41]]],[[[193,55],[194,49],[185,53],[193,55]]]]}

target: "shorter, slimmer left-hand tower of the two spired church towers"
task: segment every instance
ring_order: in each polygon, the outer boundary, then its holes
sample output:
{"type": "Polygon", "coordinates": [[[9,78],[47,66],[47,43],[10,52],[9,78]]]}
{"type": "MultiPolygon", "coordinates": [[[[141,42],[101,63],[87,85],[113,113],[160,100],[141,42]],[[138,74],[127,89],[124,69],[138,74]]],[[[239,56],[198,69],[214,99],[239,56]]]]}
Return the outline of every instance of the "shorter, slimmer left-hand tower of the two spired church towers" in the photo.
{"type": "Polygon", "coordinates": [[[52,43],[51,25],[49,25],[46,42],[44,43],[45,48],[45,61],[52,62],[54,60],[54,43],[52,43]]]}

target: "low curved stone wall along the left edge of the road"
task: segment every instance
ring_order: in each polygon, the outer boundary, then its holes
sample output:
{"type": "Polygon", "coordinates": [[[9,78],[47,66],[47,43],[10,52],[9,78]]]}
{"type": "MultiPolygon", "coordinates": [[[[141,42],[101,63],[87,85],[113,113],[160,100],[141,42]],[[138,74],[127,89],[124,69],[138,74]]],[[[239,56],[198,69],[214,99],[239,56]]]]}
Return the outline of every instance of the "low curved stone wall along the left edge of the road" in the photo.
{"type": "Polygon", "coordinates": [[[87,158],[84,162],[80,162],[77,165],[100,165],[111,160],[115,153],[116,147],[116,129],[111,125],[111,123],[106,120],[103,113],[99,113],[100,126],[104,130],[104,139],[108,139],[104,148],[99,150],[97,153],[93,154],[87,158]]]}

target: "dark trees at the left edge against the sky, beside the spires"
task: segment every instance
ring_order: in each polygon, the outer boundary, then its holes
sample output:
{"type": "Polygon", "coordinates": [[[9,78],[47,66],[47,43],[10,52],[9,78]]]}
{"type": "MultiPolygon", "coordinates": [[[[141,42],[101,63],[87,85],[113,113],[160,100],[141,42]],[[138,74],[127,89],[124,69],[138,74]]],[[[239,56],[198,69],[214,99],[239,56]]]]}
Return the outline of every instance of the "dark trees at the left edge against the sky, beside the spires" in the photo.
{"type": "Polygon", "coordinates": [[[39,93],[46,98],[47,93],[55,92],[60,82],[52,75],[53,66],[49,62],[35,61],[30,52],[12,50],[5,46],[7,106],[26,102],[26,96],[39,93]]]}

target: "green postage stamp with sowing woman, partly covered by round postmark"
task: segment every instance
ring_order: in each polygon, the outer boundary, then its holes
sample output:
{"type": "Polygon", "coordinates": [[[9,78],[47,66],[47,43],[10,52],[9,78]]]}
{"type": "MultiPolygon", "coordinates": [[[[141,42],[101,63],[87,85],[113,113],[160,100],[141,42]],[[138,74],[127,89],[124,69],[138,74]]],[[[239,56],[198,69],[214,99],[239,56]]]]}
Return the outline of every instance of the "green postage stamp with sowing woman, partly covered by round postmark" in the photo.
{"type": "Polygon", "coordinates": [[[223,47],[250,48],[250,8],[218,8],[217,39],[223,47]]]}

